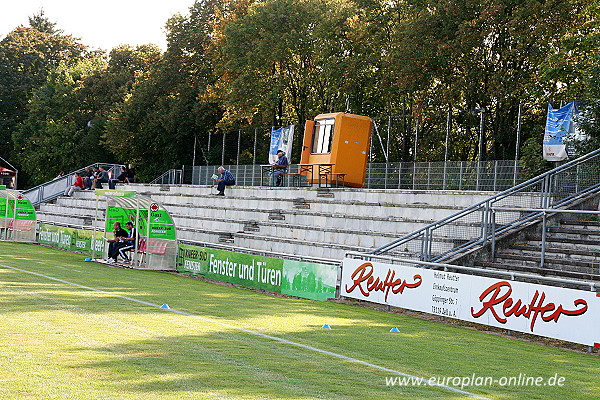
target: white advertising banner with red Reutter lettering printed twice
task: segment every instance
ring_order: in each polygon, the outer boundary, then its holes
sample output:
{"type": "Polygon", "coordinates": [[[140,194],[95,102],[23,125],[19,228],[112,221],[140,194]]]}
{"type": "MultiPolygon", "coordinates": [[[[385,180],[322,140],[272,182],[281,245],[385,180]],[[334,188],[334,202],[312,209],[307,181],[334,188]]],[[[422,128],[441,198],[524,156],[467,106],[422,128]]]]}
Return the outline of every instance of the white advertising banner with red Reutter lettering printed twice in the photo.
{"type": "Polygon", "coordinates": [[[595,292],[344,259],[340,295],[600,346],[595,292]]]}

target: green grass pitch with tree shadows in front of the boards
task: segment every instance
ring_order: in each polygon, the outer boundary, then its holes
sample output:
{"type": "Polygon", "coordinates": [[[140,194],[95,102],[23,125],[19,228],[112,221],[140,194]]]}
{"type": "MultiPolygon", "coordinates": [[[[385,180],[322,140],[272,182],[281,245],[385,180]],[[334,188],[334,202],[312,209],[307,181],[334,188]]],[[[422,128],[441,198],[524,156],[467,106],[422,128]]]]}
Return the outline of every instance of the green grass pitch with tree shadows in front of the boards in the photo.
{"type": "Polygon", "coordinates": [[[109,292],[0,266],[1,399],[464,398],[440,388],[388,387],[392,373],[234,327],[426,379],[520,373],[565,379],[562,387],[464,388],[487,398],[598,397],[597,355],[84,258],[0,243],[0,265],[109,292]],[[321,329],[324,323],[332,329],[321,329]],[[400,333],[389,333],[394,326],[400,333]]]}

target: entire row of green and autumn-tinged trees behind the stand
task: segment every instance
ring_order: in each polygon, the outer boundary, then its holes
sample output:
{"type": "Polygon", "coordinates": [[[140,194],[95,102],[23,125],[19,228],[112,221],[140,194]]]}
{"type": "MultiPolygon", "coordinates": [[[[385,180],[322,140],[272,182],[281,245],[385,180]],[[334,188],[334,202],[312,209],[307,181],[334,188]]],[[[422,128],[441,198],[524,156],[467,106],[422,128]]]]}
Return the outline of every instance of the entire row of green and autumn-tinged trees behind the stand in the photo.
{"type": "MultiPolygon", "coordinates": [[[[588,143],[600,144],[599,7],[197,0],[167,21],[164,53],[109,54],[41,10],[0,41],[0,156],[23,163],[30,183],[95,161],[134,164],[144,180],[190,163],[214,133],[351,111],[387,130],[390,161],[509,159],[520,105],[520,154],[536,173],[546,102],[584,100],[588,143]]],[[[203,147],[199,159],[220,162],[203,147]]]]}

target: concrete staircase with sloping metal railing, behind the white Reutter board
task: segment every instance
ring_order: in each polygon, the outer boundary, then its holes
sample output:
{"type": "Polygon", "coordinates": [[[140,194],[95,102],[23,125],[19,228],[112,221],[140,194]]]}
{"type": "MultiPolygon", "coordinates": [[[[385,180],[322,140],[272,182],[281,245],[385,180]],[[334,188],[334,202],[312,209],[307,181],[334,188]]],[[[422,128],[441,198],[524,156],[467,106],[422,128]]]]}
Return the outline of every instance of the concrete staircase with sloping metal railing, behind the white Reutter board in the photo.
{"type": "Polygon", "coordinates": [[[598,182],[600,149],[362,257],[394,258],[404,249],[404,258],[434,268],[446,263],[598,282],[598,182]]]}

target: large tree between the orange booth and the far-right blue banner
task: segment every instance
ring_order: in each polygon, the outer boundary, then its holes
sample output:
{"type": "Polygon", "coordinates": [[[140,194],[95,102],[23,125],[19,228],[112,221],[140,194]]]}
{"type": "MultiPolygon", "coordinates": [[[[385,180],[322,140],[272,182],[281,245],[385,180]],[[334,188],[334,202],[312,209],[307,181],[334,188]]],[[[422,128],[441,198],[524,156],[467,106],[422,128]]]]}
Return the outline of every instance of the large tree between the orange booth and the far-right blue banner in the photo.
{"type": "MultiPolygon", "coordinates": [[[[483,158],[511,158],[519,103],[533,109],[555,88],[540,85],[539,66],[560,36],[578,25],[582,1],[410,1],[416,12],[403,21],[394,58],[401,90],[421,109],[451,104],[463,110],[455,137],[469,158],[477,156],[477,116],[485,110],[483,158]],[[476,111],[476,113],[479,111],[476,111]]],[[[413,107],[413,110],[415,108],[413,107]]],[[[437,118],[443,121],[443,117],[437,118]]],[[[432,127],[429,134],[443,132],[432,127]]],[[[428,134],[424,131],[424,134],[428,134]]],[[[442,147],[442,135],[432,146],[442,147]]]]}

